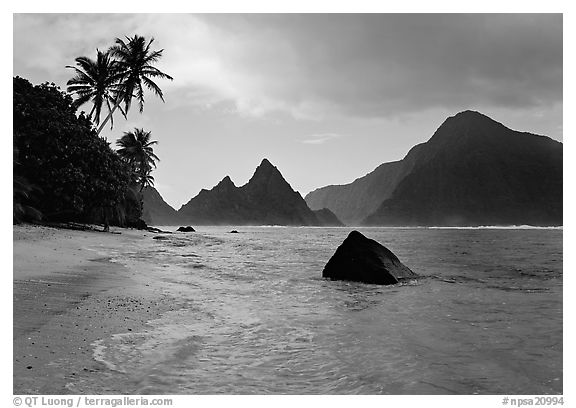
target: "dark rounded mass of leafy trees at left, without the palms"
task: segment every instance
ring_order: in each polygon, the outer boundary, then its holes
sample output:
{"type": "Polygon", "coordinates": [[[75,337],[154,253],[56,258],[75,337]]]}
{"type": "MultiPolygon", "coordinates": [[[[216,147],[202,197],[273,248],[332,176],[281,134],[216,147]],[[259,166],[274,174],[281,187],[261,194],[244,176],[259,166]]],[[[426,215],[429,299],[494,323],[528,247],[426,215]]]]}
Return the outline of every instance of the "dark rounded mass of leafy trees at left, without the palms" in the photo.
{"type": "Polygon", "coordinates": [[[121,224],[132,211],[130,166],[96,135],[88,117],[76,116],[72,98],[54,84],[33,86],[15,77],[13,104],[17,176],[41,189],[21,195],[19,204],[47,220],[121,224]]]}

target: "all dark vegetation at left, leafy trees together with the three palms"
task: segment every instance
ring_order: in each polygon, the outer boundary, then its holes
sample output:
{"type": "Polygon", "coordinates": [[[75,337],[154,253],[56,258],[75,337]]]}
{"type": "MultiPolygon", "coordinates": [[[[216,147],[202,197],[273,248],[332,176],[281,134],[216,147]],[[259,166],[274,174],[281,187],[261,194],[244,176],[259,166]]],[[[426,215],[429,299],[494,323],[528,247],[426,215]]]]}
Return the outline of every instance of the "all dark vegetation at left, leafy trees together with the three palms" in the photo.
{"type": "Polygon", "coordinates": [[[126,117],[132,98],[143,110],[144,87],[162,100],[152,78],[172,79],[152,64],[163,50],[154,40],[134,35],[116,39],[96,60],[76,58],[76,75],[68,81],[72,97],[54,84],[32,85],[15,77],[14,222],[78,221],[142,226],[142,189],[153,184],[154,154],[150,132],[135,129],[116,152],[98,134],[117,108],[126,117]],[[77,109],[92,103],[88,116],[77,109]],[[121,106],[123,105],[123,107],[121,106]],[[108,115],[100,122],[102,109],[108,115]],[[98,130],[94,125],[98,125],[98,130]]]}

